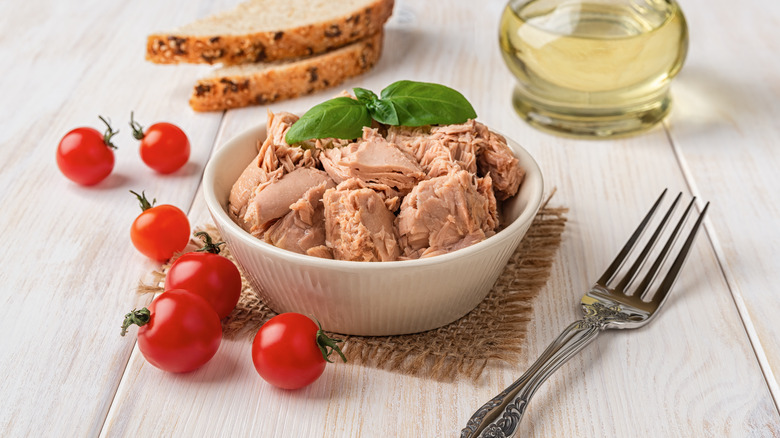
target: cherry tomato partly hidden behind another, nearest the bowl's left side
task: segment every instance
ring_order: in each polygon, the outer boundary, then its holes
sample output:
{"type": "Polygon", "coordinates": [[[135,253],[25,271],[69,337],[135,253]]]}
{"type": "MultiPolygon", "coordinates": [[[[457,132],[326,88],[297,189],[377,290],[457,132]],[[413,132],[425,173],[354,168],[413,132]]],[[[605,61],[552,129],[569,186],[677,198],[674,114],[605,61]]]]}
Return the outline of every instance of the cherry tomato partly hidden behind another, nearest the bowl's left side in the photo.
{"type": "Polygon", "coordinates": [[[165,290],[184,289],[200,295],[220,319],[230,315],[241,296],[241,273],[230,260],[219,255],[219,245],[205,232],[195,233],[205,244],[197,252],[182,255],[165,276],[165,290]]]}

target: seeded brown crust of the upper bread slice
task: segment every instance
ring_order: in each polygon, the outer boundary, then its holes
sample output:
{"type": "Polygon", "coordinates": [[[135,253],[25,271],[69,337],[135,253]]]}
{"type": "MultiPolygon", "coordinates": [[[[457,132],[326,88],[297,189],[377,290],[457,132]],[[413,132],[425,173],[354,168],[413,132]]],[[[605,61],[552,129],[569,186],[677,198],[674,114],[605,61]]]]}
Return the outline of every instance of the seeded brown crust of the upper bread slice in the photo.
{"type": "Polygon", "coordinates": [[[376,0],[335,20],[245,35],[157,33],[146,42],[146,59],[157,64],[246,64],[311,56],[378,33],[394,0],[376,0]]]}

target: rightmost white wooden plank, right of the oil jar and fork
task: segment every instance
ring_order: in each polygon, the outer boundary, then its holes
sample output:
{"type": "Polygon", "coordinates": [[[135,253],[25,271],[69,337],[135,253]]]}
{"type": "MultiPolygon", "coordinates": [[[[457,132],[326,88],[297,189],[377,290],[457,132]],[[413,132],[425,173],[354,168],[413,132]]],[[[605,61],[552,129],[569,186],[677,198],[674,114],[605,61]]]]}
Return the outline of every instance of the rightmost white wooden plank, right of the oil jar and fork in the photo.
{"type": "Polygon", "coordinates": [[[693,38],[674,84],[671,139],[692,190],[712,202],[708,233],[777,403],[780,61],[766,53],[780,41],[780,5],[683,6],[693,38]]]}

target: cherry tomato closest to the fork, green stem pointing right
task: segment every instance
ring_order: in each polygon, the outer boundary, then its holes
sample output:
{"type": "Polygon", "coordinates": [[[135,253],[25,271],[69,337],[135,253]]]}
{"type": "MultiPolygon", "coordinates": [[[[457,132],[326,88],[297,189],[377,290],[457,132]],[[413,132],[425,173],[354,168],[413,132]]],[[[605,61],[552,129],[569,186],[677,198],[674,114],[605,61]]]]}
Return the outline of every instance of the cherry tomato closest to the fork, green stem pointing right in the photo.
{"type": "Polygon", "coordinates": [[[336,345],[308,316],[282,313],[260,327],[252,343],[252,361],[260,377],[284,389],[298,389],[317,380],[325,371],[336,345]]]}

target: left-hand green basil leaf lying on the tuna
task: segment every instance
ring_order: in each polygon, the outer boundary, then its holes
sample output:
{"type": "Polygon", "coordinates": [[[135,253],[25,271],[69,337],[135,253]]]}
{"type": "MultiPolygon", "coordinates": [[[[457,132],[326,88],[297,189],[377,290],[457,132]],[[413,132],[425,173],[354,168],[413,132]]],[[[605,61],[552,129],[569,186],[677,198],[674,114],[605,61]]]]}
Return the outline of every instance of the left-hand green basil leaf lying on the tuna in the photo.
{"type": "Polygon", "coordinates": [[[326,100],[306,111],[293,123],[284,140],[296,144],[313,138],[360,138],[363,127],[371,126],[368,108],[349,97],[326,100]]]}

